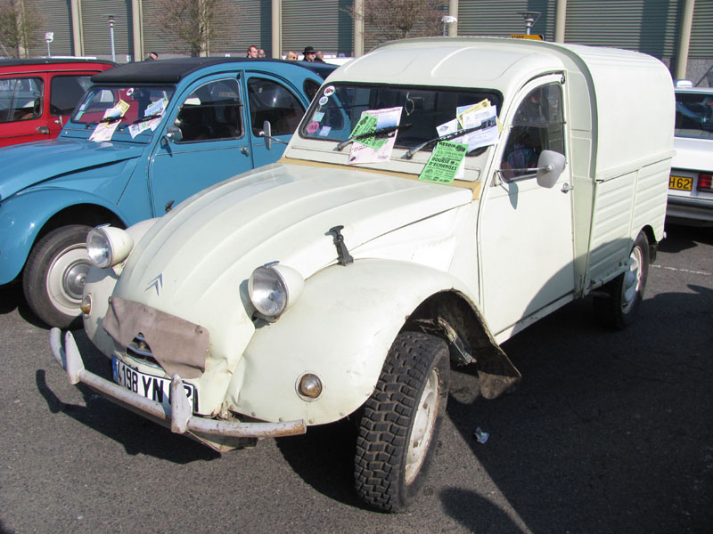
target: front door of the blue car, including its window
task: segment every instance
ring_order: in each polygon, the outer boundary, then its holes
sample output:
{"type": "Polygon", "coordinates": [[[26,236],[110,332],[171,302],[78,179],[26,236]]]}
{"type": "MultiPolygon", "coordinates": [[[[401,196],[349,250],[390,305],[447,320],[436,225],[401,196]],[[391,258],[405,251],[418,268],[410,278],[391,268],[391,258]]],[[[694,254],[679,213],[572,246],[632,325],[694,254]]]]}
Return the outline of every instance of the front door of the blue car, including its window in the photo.
{"type": "Polygon", "coordinates": [[[149,168],[156,216],[166,206],[252,168],[237,77],[203,78],[179,99],[149,168]]]}

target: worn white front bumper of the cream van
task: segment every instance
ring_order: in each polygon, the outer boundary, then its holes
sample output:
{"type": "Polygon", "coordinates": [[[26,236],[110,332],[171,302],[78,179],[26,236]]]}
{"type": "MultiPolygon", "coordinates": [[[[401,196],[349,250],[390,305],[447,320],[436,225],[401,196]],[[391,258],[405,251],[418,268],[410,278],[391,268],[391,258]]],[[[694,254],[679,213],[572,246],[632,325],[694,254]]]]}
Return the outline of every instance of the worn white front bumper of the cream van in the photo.
{"type": "Polygon", "coordinates": [[[242,421],[195,417],[188,399],[183,394],[183,381],[177,374],[171,376],[171,405],[170,409],[167,409],[160,402],[146,399],[124,389],[119,384],[114,384],[87,371],[74,336],[71,332],[67,332],[64,335],[64,347],[62,347],[59,328],[52,328],[50,331],[50,349],[54,360],[57,360],[61,368],[67,372],[70,384],[80,382],[86,384],[110,401],[125,406],[160,425],[167,426],[173,433],[190,433],[199,441],[206,441],[205,437],[209,439],[210,436],[216,436],[221,441],[225,441],[225,438],[276,438],[307,432],[304,419],[280,423],[243,423],[242,421]]]}

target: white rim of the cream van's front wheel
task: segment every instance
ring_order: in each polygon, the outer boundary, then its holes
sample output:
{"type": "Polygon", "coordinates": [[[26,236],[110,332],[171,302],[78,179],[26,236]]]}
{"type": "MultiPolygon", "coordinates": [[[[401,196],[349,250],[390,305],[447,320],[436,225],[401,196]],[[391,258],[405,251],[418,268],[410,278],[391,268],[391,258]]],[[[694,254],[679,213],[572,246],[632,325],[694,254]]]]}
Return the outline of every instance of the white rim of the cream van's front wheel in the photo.
{"type": "Polygon", "coordinates": [[[406,484],[410,484],[421,471],[423,460],[429,450],[438,416],[438,371],[430,369],[421,400],[416,408],[414,426],[408,436],[406,452],[406,484]]]}

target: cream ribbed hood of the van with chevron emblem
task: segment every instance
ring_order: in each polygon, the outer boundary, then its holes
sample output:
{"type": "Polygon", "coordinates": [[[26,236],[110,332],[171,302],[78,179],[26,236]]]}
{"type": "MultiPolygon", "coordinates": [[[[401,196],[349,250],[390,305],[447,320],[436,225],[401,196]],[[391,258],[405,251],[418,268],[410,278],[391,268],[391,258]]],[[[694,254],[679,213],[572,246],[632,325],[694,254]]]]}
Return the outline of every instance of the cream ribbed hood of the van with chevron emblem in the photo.
{"type": "Polygon", "coordinates": [[[334,226],[344,226],[358,257],[366,242],[471,198],[471,190],[360,170],[265,166],[163,217],[135,247],[115,295],[208,326],[215,308],[225,310],[221,299],[242,308],[259,265],[279,261],[307,279],[335,263],[334,226]]]}

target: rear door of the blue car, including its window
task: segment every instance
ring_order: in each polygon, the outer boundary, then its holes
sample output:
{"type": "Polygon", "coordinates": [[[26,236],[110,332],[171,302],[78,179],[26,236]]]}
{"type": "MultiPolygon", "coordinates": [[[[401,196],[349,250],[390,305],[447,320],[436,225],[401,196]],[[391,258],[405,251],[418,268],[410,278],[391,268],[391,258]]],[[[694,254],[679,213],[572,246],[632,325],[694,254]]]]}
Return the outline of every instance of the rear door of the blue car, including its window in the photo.
{"type": "Polygon", "coordinates": [[[305,114],[307,102],[303,102],[289,85],[265,73],[248,73],[248,109],[250,113],[250,144],[255,166],[263,166],[279,159],[287,147],[282,142],[273,142],[270,150],[265,138],[260,136],[263,123],[270,121],[272,136],[289,142],[299,121],[305,114]]]}

